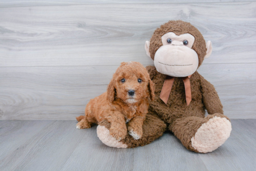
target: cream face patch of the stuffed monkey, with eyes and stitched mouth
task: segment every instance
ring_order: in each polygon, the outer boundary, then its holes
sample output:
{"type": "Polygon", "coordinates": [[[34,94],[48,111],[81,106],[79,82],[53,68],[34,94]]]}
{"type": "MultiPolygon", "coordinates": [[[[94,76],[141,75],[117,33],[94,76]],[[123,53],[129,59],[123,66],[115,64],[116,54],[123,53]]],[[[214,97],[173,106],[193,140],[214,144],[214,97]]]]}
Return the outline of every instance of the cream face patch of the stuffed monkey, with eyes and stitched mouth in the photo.
{"type": "Polygon", "coordinates": [[[161,38],[163,46],[156,51],[154,59],[156,70],[173,77],[193,74],[198,67],[198,55],[192,49],[195,37],[189,33],[177,36],[169,32],[161,38]]]}

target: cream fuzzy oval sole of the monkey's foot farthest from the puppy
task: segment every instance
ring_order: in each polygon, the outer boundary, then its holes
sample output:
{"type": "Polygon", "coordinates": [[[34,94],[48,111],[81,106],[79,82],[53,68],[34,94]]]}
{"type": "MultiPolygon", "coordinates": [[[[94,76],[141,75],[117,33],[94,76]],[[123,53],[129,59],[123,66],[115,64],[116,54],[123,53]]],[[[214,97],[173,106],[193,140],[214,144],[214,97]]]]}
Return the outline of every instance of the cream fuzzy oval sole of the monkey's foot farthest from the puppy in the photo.
{"type": "Polygon", "coordinates": [[[215,116],[198,128],[191,138],[191,145],[202,153],[214,151],[229,138],[231,130],[227,118],[215,116]]]}

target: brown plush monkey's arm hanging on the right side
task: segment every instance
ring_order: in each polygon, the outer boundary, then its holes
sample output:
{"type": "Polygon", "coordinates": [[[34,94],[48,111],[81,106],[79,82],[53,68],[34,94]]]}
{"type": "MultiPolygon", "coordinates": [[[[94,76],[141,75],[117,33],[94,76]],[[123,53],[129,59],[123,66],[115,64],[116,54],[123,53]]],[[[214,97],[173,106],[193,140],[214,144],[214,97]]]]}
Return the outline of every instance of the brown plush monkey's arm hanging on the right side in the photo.
{"type": "Polygon", "coordinates": [[[211,83],[209,83],[206,79],[204,79],[202,76],[200,78],[202,86],[202,101],[207,112],[209,114],[223,114],[223,106],[214,86],[211,83]]]}

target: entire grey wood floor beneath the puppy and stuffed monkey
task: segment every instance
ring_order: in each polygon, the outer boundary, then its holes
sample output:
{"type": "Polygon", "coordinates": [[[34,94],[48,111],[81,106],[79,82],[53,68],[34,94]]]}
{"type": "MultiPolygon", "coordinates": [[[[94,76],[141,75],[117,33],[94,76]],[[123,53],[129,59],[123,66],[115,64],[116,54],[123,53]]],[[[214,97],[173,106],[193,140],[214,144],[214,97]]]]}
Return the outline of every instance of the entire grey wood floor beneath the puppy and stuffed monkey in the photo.
{"type": "Polygon", "coordinates": [[[230,138],[216,151],[185,149],[169,132],[135,149],[101,143],[96,125],[75,121],[0,121],[0,171],[255,171],[256,119],[231,120],[230,138]]]}

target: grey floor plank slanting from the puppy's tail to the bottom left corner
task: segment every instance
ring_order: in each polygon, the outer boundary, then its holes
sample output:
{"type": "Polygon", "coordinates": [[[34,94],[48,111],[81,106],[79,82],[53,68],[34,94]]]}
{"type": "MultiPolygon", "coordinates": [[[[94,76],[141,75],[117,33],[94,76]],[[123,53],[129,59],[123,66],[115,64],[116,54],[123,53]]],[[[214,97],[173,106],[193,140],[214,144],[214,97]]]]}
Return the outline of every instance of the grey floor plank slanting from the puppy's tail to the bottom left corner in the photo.
{"type": "Polygon", "coordinates": [[[18,145],[17,150],[11,151],[2,159],[4,170],[28,171],[31,168],[36,168],[38,171],[59,170],[58,168],[69,158],[81,138],[87,135],[77,132],[74,122],[48,121],[48,123],[37,135],[18,145]]]}

